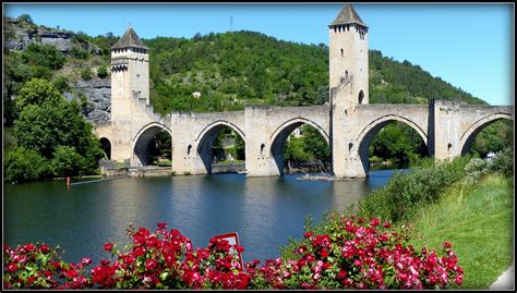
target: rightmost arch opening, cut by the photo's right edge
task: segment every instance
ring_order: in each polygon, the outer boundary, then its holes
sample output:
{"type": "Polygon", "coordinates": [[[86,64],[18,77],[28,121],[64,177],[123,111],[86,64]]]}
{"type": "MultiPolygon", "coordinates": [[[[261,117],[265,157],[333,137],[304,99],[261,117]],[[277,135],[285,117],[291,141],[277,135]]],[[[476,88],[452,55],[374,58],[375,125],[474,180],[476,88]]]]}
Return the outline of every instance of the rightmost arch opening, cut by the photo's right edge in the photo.
{"type": "Polygon", "coordinates": [[[480,123],[465,139],[461,156],[470,155],[486,158],[507,148],[514,148],[513,121],[508,118],[496,118],[480,123]]]}

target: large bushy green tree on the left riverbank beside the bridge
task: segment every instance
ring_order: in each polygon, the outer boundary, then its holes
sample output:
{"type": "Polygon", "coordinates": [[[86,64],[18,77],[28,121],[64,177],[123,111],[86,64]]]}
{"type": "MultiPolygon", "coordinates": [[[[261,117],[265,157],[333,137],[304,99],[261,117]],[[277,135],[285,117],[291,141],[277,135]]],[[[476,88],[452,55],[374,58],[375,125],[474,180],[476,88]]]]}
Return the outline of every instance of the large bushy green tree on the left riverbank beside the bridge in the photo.
{"type": "MultiPolygon", "coordinates": [[[[47,170],[55,175],[96,172],[103,150],[92,134],[92,125],[81,115],[81,106],[75,101],[68,102],[47,81],[26,83],[21,91],[26,96],[21,102],[23,108],[13,131],[21,150],[12,157],[10,166],[23,167],[27,157],[24,149],[29,149],[50,164],[47,170]],[[45,93],[52,97],[41,96],[45,93]]],[[[35,180],[45,173],[22,167],[24,171],[20,173],[13,168],[8,169],[8,164],[4,167],[5,172],[10,172],[7,178],[35,180]]]]}

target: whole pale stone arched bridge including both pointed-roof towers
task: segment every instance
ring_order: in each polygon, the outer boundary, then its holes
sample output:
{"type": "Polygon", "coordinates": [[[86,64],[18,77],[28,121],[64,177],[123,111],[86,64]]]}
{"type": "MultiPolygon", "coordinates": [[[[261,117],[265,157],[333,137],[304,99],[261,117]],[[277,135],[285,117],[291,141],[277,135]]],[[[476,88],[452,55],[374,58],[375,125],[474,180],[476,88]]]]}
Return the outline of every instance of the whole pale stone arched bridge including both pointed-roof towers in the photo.
{"type": "Polygon", "coordinates": [[[476,135],[501,119],[512,119],[514,107],[469,106],[433,100],[429,105],[369,105],[368,26],[351,4],[328,27],[329,101],[311,107],[245,106],[220,113],[156,114],[149,105],[148,48],[130,26],[111,48],[111,119],[95,125],[111,159],[133,167],[149,164],[153,137],[171,135],[172,171],[212,173],[212,145],[223,127],[245,143],[249,176],[280,175],[282,148],[302,124],[316,129],[329,144],[333,173],[363,178],[369,172],[368,147],[387,123],[413,129],[430,156],[443,160],[465,155],[476,135]]]}

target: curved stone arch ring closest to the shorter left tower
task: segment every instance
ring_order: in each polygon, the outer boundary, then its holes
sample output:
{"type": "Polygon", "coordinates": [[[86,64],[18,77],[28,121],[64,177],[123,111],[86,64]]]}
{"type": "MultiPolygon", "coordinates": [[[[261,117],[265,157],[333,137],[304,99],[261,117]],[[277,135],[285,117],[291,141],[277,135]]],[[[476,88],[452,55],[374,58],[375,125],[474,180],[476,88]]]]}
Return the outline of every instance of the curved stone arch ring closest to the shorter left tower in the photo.
{"type": "Polygon", "coordinates": [[[170,129],[158,122],[147,123],[133,136],[133,164],[147,166],[152,163],[151,144],[160,131],[166,131],[172,137],[170,129]]]}

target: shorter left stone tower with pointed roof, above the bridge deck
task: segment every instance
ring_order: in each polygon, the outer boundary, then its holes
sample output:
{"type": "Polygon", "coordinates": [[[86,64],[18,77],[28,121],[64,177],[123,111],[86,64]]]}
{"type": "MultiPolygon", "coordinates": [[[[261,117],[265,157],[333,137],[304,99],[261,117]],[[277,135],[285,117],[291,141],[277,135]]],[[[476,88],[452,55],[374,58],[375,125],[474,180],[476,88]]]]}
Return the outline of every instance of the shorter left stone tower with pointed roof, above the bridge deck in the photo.
{"type": "Polygon", "coordinates": [[[131,120],[132,101],[149,103],[149,56],[130,25],[111,47],[111,121],[131,120]]]}

